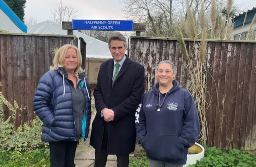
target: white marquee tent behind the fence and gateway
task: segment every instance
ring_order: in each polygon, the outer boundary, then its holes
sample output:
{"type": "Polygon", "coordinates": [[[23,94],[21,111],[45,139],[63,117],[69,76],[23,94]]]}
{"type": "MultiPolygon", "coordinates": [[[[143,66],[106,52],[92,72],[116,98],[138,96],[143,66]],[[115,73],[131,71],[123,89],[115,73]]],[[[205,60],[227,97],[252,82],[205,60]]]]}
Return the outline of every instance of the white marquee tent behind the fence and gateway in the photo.
{"type": "MultiPolygon", "coordinates": [[[[67,30],[63,30],[60,24],[56,24],[50,20],[47,20],[29,26],[27,28],[27,33],[67,35],[67,30]]],[[[74,30],[74,35],[78,38],[82,37],[86,42],[87,58],[112,58],[108,49],[108,44],[106,42],[97,40],[76,30],[74,30]]],[[[78,42],[78,45],[80,45],[80,40],[78,42]]]]}

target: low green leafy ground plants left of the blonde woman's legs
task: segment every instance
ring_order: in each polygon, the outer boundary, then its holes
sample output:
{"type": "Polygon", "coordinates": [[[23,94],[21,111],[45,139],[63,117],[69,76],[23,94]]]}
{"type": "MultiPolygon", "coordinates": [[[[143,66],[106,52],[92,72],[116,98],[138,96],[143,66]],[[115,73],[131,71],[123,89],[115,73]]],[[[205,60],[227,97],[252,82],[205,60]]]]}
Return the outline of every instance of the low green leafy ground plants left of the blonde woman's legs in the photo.
{"type": "Polygon", "coordinates": [[[48,148],[26,152],[8,151],[0,153],[0,167],[49,167],[50,151],[48,148]]]}

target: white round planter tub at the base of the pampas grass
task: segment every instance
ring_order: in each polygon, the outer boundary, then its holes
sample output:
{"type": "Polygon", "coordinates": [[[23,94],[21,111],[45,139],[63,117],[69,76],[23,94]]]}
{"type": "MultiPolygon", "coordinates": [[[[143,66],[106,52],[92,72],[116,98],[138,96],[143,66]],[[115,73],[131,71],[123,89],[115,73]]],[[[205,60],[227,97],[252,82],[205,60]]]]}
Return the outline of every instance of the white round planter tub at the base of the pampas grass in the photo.
{"type": "Polygon", "coordinates": [[[188,154],[187,155],[187,163],[183,167],[188,167],[188,165],[196,164],[196,160],[200,160],[204,157],[204,147],[198,143],[195,143],[192,147],[188,148],[188,150],[196,150],[197,154],[188,154]]]}

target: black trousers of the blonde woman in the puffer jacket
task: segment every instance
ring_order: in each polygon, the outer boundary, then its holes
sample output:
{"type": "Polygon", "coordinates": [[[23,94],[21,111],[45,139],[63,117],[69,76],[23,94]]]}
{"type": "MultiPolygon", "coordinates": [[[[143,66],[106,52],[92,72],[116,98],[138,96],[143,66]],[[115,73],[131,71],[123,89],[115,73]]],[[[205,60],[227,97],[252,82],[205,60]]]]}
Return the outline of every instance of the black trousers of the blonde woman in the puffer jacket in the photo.
{"type": "Polygon", "coordinates": [[[51,167],[74,167],[77,141],[49,142],[51,167]]]}

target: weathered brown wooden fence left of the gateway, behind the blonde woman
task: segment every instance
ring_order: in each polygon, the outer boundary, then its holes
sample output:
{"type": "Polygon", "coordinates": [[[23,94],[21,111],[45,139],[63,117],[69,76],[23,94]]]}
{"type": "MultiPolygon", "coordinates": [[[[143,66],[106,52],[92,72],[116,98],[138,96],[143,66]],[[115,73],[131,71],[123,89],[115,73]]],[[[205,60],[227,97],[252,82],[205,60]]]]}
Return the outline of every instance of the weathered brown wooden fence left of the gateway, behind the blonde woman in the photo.
{"type": "MultiPolygon", "coordinates": [[[[0,33],[0,88],[13,104],[16,100],[16,127],[24,122],[31,124],[35,113],[33,97],[40,77],[49,70],[54,57],[54,48],[64,44],[77,46],[77,38],[62,35],[1,34],[0,33]]],[[[4,117],[12,115],[4,106],[4,117]]]]}

